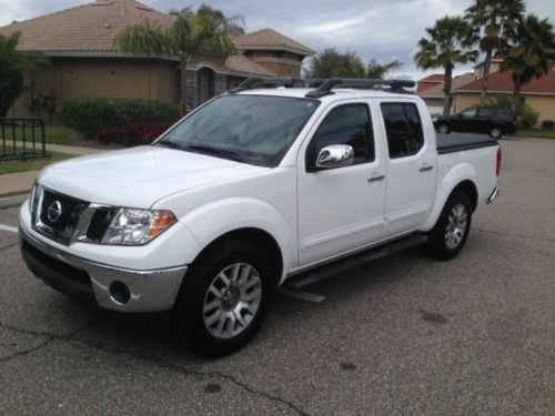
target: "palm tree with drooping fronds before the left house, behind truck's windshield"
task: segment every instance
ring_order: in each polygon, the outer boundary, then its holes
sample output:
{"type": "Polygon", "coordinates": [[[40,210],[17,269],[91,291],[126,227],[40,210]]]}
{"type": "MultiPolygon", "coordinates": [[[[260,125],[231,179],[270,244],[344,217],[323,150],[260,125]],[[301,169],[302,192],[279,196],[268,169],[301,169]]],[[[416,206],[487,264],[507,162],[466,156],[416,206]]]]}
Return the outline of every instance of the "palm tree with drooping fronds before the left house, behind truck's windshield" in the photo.
{"type": "Polygon", "coordinates": [[[173,12],[175,22],[169,29],[145,20],[125,28],[117,38],[121,50],[147,57],[176,58],[181,70],[181,113],[186,113],[186,65],[193,55],[225,58],[235,51],[221,19],[213,13],[191,9],[173,12]]]}

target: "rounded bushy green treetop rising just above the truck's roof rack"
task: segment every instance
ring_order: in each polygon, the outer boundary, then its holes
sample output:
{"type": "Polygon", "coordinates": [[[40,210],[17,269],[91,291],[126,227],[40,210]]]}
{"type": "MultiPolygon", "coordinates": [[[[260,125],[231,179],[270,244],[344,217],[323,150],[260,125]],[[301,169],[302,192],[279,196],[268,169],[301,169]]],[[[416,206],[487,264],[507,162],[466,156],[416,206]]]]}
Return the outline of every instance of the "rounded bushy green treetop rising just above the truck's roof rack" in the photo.
{"type": "Polygon", "coordinates": [[[306,70],[309,78],[364,78],[364,64],[355,52],[326,48],[317,52],[306,70]]]}

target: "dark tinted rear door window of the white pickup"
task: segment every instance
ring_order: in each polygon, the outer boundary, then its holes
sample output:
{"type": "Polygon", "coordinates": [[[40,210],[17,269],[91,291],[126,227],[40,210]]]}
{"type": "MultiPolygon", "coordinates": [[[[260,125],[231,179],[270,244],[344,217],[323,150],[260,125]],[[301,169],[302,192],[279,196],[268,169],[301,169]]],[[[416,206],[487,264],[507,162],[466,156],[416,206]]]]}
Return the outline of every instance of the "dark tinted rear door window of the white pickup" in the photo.
{"type": "Polygon", "coordinates": [[[382,114],[390,158],[405,158],[418,153],[424,145],[424,134],[416,105],[382,103],[382,114]]]}

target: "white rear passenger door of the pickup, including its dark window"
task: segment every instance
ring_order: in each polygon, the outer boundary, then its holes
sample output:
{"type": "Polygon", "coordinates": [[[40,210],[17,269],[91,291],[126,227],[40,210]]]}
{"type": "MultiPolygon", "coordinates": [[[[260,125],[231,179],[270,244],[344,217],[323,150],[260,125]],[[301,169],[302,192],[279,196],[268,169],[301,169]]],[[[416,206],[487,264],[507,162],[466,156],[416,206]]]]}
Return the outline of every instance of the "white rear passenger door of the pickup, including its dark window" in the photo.
{"type": "MultiPolygon", "coordinates": [[[[381,121],[387,142],[383,237],[393,237],[417,230],[432,210],[437,174],[437,150],[424,140],[418,111],[426,111],[416,101],[379,102],[381,121]]],[[[430,123],[428,123],[430,124],[430,123]]],[[[432,125],[426,134],[434,134],[432,125]]]]}

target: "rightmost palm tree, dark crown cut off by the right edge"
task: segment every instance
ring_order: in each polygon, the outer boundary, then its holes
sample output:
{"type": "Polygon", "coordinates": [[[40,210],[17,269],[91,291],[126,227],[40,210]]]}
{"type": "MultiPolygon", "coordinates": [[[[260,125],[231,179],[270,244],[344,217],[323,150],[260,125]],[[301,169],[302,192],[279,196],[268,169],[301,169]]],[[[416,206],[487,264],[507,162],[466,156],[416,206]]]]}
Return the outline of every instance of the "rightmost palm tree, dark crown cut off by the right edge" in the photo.
{"type": "Polygon", "coordinates": [[[555,33],[547,19],[528,14],[512,35],[513,45],[507,50],[502,71],[513,71],[514,108],[522,88],[534,78],[546,75],[555,61],[555,33]]]}

